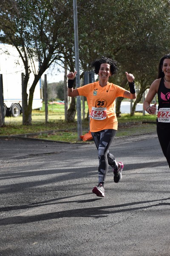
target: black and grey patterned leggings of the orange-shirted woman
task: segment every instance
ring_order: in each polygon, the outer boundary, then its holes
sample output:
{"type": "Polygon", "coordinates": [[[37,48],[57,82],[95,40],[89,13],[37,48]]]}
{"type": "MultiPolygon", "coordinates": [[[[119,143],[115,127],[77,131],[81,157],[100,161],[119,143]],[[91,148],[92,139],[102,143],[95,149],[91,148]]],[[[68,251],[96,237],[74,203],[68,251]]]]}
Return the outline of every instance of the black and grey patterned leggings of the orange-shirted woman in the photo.
{"type": "Polygon", "coordinates": [[[109,153],[109,147],[112,144],[114,137],[116,135],[116,130],[107,129],[97,132],[91,132],[94,143],[98,150],[98,157],[99,157],[99,182],[105,182],[107,173],[108,173],[108,166],[112,166],[115,170],[117,170],[118,165],[115,160],[113,154],[109,153]]]}

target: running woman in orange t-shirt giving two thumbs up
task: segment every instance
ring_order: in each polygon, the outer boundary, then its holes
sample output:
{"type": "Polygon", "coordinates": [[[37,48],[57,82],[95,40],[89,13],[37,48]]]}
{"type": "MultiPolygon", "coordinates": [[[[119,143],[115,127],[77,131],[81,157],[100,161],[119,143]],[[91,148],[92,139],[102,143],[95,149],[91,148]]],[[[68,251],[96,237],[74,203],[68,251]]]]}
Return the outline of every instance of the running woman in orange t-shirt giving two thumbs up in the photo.
{"type": "Polygon", "coordinates": [[[94,186],[92,192],[99,197],[105,196],[104,183],[108,173],[108,166],[113,168],[114,182],[118,183],[122,179],[122,162],[116,162],[113,154],[109,152],[109,147],[113,143],[116,135],[118,123],[114,112],[115,99],[124,97],[128,99],[136,98],[134,76],[126,73],[129,82],[130,92],[124,88],[109,83],[108,79],[117,71],[116,61],[102,57],[92,63],[94,72],[99,76],[99,81],[86,84],[73,89],[74,79],[77,71],[71,72],[68,77],[68,96],[85,96],[88,102],[90,113],[90,131],[94,138],[94,143],[98,150],[99,168],[98,185],[94,186]]]}

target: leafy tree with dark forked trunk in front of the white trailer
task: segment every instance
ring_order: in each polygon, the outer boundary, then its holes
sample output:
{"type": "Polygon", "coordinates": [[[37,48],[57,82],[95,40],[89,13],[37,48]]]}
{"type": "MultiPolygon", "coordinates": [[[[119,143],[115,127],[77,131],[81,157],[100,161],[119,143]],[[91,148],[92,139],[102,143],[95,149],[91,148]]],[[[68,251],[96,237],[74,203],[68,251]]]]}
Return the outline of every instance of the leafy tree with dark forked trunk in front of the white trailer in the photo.
{"type": "Polygon", "coordinates": [[[0,41],[17,48],[25,67],[23,124],[28,125],[37,82],[53,62],[63,61],[69,20],[67,1],[3,0],[0,7],[0,41]],[[34,60],[39,62],[37,70],[34,60]],[[34,82],[28,96],[30,72],[34,72],[34,82]]]}

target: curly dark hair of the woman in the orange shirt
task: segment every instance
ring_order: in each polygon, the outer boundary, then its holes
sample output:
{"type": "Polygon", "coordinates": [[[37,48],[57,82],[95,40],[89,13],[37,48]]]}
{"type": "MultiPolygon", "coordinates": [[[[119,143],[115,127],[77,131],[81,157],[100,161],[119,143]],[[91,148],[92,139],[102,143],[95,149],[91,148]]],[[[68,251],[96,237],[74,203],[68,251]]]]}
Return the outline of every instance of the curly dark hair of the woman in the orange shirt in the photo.
{"type": "Polygon", "coordinates": [[[93,61],[91,63],[91,67],[94,67],[94,73],[96,73],[97,75],[99,74],[100,65],[102,63],[110,64],[111,76],[116,74],[116,72],[118,70],[117,62],[113,61],[111,58],[107,58],[107,57],[104,57],[104,56],[102,56],[102,58],[100,58],[100,59],[96,59],[95,61],[93,61]]]}

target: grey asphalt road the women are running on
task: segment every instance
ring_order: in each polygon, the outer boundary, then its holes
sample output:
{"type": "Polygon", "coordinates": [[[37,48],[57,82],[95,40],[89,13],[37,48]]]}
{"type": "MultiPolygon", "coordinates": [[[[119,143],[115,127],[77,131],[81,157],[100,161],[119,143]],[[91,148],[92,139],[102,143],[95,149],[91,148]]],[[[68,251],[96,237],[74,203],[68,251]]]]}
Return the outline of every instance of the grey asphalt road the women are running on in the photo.
{"type": "Polygon", "coordinates": [[[116,138],[105,198],[94,143],[0,138],[0,256],[170,256],[170,169],[156,134],[116,138]]]}

